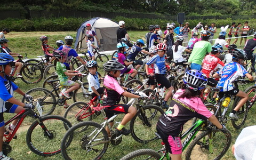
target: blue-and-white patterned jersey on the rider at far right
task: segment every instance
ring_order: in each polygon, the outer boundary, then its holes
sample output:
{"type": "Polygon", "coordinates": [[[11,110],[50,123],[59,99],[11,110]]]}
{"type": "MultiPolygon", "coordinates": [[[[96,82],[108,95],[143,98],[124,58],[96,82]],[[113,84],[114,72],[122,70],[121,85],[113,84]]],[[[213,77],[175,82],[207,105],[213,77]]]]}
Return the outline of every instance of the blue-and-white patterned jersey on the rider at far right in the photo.
{"type": "Polygon", "coordinates": [[[221,92],[227,92],[234,89],[233,82],[238,76],[245,76],[248,72],[237,62],[230,62],[221,68],[217,73],[220,75],[220,81],[217,87],[223,87],[221,92]]]}

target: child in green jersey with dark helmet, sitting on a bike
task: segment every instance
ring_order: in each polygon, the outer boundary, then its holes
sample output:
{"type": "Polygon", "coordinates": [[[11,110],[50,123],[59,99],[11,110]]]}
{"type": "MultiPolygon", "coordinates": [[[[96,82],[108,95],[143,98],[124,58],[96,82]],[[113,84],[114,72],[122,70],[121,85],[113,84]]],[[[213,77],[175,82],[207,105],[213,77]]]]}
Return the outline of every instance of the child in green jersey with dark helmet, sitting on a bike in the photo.
{"type": "MultiPolygon", "coordinates": [[[[70,99],[69,92],[79,89],[80,85],[68,79],[68,76],[81,76],[80,73],[74,73],[73,70],[67,70],[66,66],[63,64],[66,60],[66,53],[63,51],[55,51],[54,57],[57,59],[56,71],[60,80],[60,85],[70,87],[65,92],[61,92],[63,96],[70,99]]],[[[64,108],[68,108],[67,101],[65,101],[64,108]]]]}

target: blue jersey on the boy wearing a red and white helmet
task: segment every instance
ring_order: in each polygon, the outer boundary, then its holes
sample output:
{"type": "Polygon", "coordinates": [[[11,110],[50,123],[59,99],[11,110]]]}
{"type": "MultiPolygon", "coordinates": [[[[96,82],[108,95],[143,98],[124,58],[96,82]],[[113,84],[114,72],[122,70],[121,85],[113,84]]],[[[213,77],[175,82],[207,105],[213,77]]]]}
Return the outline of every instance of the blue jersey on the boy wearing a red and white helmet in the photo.
{"type": "Polygon", "coordinates": [[[147,65],[151,65],[154,63],[155,74],[165,75],[165,55],[160,57],[158,54],[154,55],[148,62],[147,65]]]}

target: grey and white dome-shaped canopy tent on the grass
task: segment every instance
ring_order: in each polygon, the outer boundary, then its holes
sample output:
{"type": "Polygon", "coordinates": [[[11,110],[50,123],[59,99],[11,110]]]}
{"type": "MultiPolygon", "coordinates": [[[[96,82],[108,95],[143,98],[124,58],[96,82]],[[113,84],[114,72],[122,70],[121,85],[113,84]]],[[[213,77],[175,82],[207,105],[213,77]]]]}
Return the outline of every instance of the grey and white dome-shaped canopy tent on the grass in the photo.
{"type": "Polygon", "coordinates": [[[96,43],[95,46],[100,47],[101,51],[112,51],[116,50],[117,44],[117,35],[116,30],[119,28],[119,25],[116,22],[111,21],[107,18],[92,18],[88,21],[82,23],[81,27],[77,30],[76,33],[76,42],[75,42],[75,50],[86,49],[86,41],[85,41],[85,25],[90,23],[92,30],[95,31],[95,34],[99,38],[100,45],[96,43]]]}

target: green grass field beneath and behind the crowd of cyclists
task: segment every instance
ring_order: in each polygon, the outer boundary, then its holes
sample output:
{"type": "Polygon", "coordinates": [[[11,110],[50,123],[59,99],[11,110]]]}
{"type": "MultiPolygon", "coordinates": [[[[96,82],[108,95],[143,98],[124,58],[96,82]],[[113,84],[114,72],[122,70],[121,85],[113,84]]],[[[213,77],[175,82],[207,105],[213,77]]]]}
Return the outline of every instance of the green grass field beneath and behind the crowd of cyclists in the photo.
{"type": "MultiPolygon", "coordinates": [[[[128,31],[132,41],[136,41],[139,38],[142,38],[145,40],[145,34],[147,33],[147,31],[128,31]]],[[[22,55],[24,55],[25,53],[28,54],[29,58],[35,58],[36,55],[43,55],[43,51],[41,48],[41,41],[39,41],[39,37],[41,35],[46,35],[49,37],[49,45],[57,47],[55,45],[55,41],[57,41],[58,39],[64,39],[65,36],[70,35],[73,36],[75,38],[76,36],[76,32],[75,31],[70,31],[70,32],[27,32],[27,33],[17,33],[17,32],[11,32],[10,34],[6,35],[6,38],[9,39],[9,47],[13,52],[16,53],[20,53],[22,55]]],[[[216,38],[217,38],[217,34],[215,34],[216,38]]],[[[231,43],[234,41],[234,39],[231,40],[231,43]]],[[[239,42],[239,40],[238,40],[239,42]]],[[[242,45],[243,47],[243,45],[242,45]]],[[[103,75],[103,71],[101,71],[101,75],[103,75]]],[[[34,85],[27,85],[25,83],[23,83],[22,81],[15,81],[15,83],[18,84],[18,86],[21,88],[21,90],[23,91],[28,91],[30,89],[33,89],[35,87],[41,87],[42,86],[42,82],[40,82],[39,84],[34,84],[34,85]]],[[[17,97],[17,99],[21,100],[21,96],[15,94],[14,97],[17,97]]],[[[71,103],[71,100],[70,102],[71,103]]],[[[54,111],[54,115],[61,115],[64,112],[64,108],[57,106],[57,108],[54,111]]],[[[231,110],[231,109],[230,109],[231,110]]],[[[255,125],[256,124],[256,120],[254,118],[254,113],[255,109],[252,108],[249,112],[249,117],[247,117],[247,121],[245,126],[250,126],[250,125],[255,125]]],[[[7,120],[7,118],[10,118],[12,114],[5,114],[5,119],[7,120]]],[[[119,116],[119,118],[122,118],[122,116],[119,116]]],[[[118,121],[118,119],[116,119],[118,121]]],[[[28,125],[31,124],[31,122],[33,122],[34,120],[31,117],[27,117],[25,120],[25,125],[23,125],[22,129],[20,129],[20,132],[18,133],[18,139],[14,139],[11,141],[10,145],[12,146],[13,150],[12,153],[9,154],[11,157],[15,158],[15,159],[63,159],[61,157],[61,155],[56,155],[56,156],[52,156],[52,157],[41,157],[41,156],[37,156],[34,153],[31,153],[31,151],[28,149],[27,145],[26,145],[26,129],[28,128],[28,125]]],[[[103,119],[102,119],[103,121],[103,119]]],[[[102,122],[100,121],[100,122],[102,122]]],[[[233,128],[233,126],[231,126],[231,123],[228,122],[227,123],[227,127],[228,129],[231,131],[232,135],[233,135],[233,140],[232,140],[232,144],[234,144],[235,139],[237,137],[237,135],[241,132],[242,129],[240,130],[235,130],[233,128]]],[[[221,139],[220,139],[221,141],[221,139]]],[[[44,143],[42,141],[42,143],[44,143]]],[[[78,145],[78,144],[77,144],[78,145]]],[[[123,137],[123,141],[120,145],[118,146],[113,146],[110,145],[107,153],[103,156],[102,159],[119,159],[121,158],[123,155],[130,153],[131,151],[137,150],[137,149],[141,149],[141,148],[151,148],[151,149],[155,149],[158,150],[160,148],[162,148],[161,146],[161,141],[160,140],[156,140],[154,142],[151,142],[147,145],[142,145],[136,141],[134,141],[132,139],[132,137],[129,135],[127,137],[123,137]]],[[[86,159],[86,157],[84,157],[84,159],[86,159]]],[[[228,150],[228,152],[226,153],[226,155],[222,158],[222,159],[235,159],[234,156],[231,153],[231,149],[228,150]]]]}

